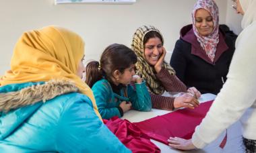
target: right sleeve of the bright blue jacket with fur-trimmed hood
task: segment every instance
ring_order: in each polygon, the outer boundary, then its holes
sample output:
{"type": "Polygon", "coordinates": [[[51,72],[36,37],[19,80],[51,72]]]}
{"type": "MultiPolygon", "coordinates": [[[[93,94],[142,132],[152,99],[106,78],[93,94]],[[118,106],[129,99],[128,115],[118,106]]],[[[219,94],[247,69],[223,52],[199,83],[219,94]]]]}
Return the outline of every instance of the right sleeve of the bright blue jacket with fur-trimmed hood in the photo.
{"type": "Polygon", "coordinates": [[[57,132],[59,152],[131,152],[100,121],[85,95],[67,101],[57,132]]]}

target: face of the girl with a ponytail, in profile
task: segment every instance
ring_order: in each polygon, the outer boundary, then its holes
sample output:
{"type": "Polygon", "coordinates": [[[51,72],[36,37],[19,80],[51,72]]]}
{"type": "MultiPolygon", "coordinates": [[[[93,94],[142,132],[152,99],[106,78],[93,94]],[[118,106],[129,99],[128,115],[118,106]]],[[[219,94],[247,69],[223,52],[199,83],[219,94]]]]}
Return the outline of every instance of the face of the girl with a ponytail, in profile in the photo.
{"type": "Polygon", "coordinates": [[[118,83],[123,85],[129,85],[131,83],[131,79],[133,79],[133,75],[135,75],[134,71],[135,64],[132,64],[129,68],[125,68],[123,74],[120,74],[118,83]]]}

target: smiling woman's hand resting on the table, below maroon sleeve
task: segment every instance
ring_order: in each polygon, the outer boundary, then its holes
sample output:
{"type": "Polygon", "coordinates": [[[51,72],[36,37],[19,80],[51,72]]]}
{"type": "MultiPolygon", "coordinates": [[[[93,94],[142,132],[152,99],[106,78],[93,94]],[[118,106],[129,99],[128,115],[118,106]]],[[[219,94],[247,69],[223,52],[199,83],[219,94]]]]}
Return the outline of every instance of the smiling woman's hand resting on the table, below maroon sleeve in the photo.
{"type": "Polygon", "coordinates": [[[174,99],[174,108],[188,107],[194,109],[197,106],[199,106],[199,102],[189,93],[184,93],[174,99]]]}

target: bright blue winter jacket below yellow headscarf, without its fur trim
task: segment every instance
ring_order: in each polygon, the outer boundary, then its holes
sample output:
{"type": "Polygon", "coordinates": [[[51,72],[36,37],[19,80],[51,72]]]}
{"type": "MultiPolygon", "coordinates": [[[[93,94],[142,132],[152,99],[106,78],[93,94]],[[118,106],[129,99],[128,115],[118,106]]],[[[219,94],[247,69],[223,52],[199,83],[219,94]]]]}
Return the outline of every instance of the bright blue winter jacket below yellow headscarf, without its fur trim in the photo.
{"type": "MultiPolygon", "coordinates": [[[[19,93],[35,84],[0,87],[0,104],[19,98],[15,95],[8,100],[5,94],[19,93]]],[[[67,93],[45,103],[39,101],[7,113],[0,111],[0,152],[131,151],[100,121],[86,95],[67,93]]]]}

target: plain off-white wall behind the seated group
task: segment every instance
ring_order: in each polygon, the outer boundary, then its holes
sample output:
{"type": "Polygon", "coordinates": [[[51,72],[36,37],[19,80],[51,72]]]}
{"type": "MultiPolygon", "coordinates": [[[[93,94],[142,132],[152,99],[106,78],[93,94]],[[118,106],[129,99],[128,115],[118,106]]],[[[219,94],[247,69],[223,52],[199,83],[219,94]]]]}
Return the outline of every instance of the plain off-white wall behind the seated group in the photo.
{"type": "MultiPolygon", "coordinates": [[[[86,42],[86,60],[98,60],[112,43],[130,46],[135,30],[155,25],[172,50],[183,25],[191,23],[195,0],[137,0],[132,5],[67,4],[54,0],[0,0],[0,75],[9,69],[13,46],[22,32],[60,25],[77,32],[86,42]]],[[[226,23],[227,0],[216,0],[220,23],[226,23]]],[[[229,14],[228,14],[229,15],[229,14]]],[[[230,25],[231,20],[228,20],[230,25]]],[[[170,59],[170,54],[166,60],[170,59]]]]}

